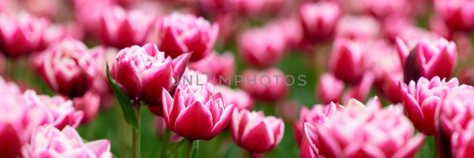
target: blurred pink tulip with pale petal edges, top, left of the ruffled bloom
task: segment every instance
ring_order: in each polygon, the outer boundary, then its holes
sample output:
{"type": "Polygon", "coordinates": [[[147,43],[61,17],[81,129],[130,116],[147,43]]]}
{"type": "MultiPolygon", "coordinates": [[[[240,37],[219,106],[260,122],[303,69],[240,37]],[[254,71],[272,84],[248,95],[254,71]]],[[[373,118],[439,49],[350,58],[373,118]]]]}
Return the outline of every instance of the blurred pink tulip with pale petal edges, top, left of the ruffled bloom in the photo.
{"type": "Polygon", "coordinates": [[[107,46],[123,48],[143,45],[154,16],[119,6],[105,9],[100,20],[100,37],[107,46]]]}

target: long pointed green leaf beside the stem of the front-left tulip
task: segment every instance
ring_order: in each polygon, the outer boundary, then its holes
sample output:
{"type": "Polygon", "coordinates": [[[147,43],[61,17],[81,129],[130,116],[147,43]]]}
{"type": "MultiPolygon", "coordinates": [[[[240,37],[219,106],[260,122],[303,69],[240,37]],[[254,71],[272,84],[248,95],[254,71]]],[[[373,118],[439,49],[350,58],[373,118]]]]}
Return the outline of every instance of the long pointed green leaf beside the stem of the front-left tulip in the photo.
{"type": "Polygon", "coordinates": [[[128,96],[122,92],[117,84],[115,84],[115,81],[110,77],[109,63],[107,63],[107,80],[109,80],[110,87],[112,87],[112,91],[114,91],[115,96],[117,96],[118,103],[120,103],[120,107],[122,107],[125,121],[135,130],[138,130],[137,113],[135,113],[135,109],[132,105],[132,102],[130,102],[130,99],[128,99],[128,96]]]}

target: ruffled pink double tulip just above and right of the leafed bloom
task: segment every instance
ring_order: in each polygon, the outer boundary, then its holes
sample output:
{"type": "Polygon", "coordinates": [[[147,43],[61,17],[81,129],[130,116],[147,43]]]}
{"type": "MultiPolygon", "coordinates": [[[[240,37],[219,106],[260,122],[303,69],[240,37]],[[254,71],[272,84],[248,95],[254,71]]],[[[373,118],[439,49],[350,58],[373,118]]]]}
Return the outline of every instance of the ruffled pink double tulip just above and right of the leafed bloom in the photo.
{"type": "Polygon", "coordinates": [[[175,58],[192,52],[191,61],[208,56],[216,43],[219,25],[191,14],[172,13],[158,21],[158,47],[175,58]]]}

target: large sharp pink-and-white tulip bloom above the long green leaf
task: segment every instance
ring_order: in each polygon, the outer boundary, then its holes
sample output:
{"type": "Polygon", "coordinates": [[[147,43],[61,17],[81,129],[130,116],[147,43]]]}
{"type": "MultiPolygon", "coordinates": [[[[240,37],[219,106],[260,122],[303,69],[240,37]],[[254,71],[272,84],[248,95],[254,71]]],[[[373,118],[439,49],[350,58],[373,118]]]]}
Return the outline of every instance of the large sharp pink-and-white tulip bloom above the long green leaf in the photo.
{"type": "Polygon", "coordinates": [[[111,77],[132,100],[144,101],[150,105],[161,103],[162,87],[174,92],[188,64],[190,54],[174,59],[165,57],[154,44],[142,47],[131,46],[120,50],[110,69],[111,77]]]}

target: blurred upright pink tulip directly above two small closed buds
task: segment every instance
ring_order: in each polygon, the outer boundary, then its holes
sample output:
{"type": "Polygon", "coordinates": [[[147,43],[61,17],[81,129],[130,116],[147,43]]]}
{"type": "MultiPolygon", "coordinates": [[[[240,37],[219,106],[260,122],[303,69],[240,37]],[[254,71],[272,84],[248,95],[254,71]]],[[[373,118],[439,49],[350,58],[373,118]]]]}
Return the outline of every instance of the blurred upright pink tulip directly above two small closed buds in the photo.
{"type": "Polygon", "coordinates": [[[355,83],[362,77],[363,46],[345,38],[338,38],[333,44],[329,58],[329,71],[337,78],[355,83]]]}

